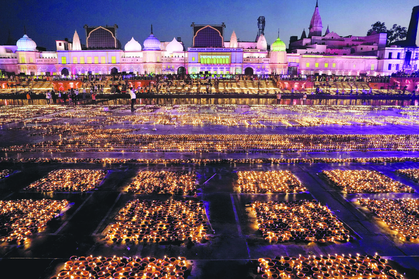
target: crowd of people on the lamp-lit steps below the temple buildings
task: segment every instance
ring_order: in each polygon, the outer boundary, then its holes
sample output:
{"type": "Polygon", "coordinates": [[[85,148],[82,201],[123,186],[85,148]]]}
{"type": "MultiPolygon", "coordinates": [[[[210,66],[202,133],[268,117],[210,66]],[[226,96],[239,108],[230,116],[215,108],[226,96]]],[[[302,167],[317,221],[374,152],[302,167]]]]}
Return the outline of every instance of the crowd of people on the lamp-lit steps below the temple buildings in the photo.
{"type": "MultiPolygon", "coordinates": [[[[135,77],[143,77],[143,78],[150,78],[151,81],[140,82],[134,91],[138,93],[149,93],[149,94],[158,94],[162,92],[167,93],[178,93],[178,89],[181,88],[181,92],[200,92],[200,93],[213,93],[213,92],[220,92],[222,93],[225,89],[225,93],[233,92],[231,90],[233,87],[240,87],[240,81],[253,81],[253,87],[257,85],[257,94],[287,94],[287,92],[291,92],[292,95],[301,95],[301,94],[317,94],[317,95],[328,95],[328,94],[336,94],[336,95],[368,95],[374,94],[371,87],[368,89],[364,89],[365,85],[358,88],[357,82],[375,82],[372,79],[389,79],[390,76],[367,76],[367,75],[305,75],[305,74],[253,74],[253,75],[246,75],[246,74],[88,74],[88,75],[69,75],[65,77],[66,79],[70,80],[80,80],[82,83],[78,84],[80,87],[79,89],[71,89],[67,91],[54,91],[48,90],[44,92],[44,95],[47,99],[48,103],[59,103],[59,102],[70,102],[71,104],[75,104],[79,100],[85,99],[86,96],[90,97],[97,94],[103,94],[104,89],[109,81],[111,81],[111,92],[114,93],[130,93],[129,87],[133,86],[135,77]],[[318,82],[316,83],[316,87],[312,90],[305,89],[301,90],[301,92],[297,89],[290,89],[284,88],[283,90],[279,89],[281,86],[274,88],[273,90],[266,90],[261,89],[265,86],[261,86],[261,82],[263,81],[272,81],[274,84],[279,84],[282,80],[307,80],[308,82],[318,82]],[[350,89],[345,88],[337,88],[332,86],[331,82],[349,82],[350,89]],[[350,84],[353,82],[353,84],[350,84]],[[220,84],[223,84],[220,87],[220,84]],[[261,87],[261,88],[260,88],[261,87]],[[185,88],[187,90],[185,90],[185,88]],[[213,90],[213,89],[217,90],[213,90]],[[334,89],[333,89],[334,88],[334,89]],[[221,89],[221,90],[220,90],[221,89]],[[284,91],[285,90],[285,91],[284,91]]],[[[391,77],[405,77],[405,74],[402,72],[398,72],[392,74],[391,77]]],[[[419,77],[419,72],[414,72],[409,74],[409,77],[419,77]]],[[[32,75],[32,76],[0,76],[0,78],[8,78],[10,81],[14,81],[16,84],[21,84],[23,91],[25,94],[27,91],[25,87],[29,89],[28,93],[28,100],[30,95],[32,94],[30,90],[30,82],[36,81],[45,81],[45,80],[59,80],[63,78],[62,75],[55,75],[55,76],[46,76],[46,75],[32,75]],[[23,85],[22,85],[23,84],[23,85]],[[26,85],[24,85],[26,84],[26,85]]],[[[5,83],[6,84],[6,83],[5,83]]],[[[11,86],[16,86],[13,83],[7,83],[5,86],[9,89],[11,86]]],[[[348,86],[348,87],[349,87],[348,86]]],[[[13,87],[12,87],[13,88],[13,87]]],[[[389,84],[390,88],[390,84],[389,84]]],[[[400,94],[412,94],[415,95],[417,92],[417,86],[414,88],[413,91],[408,91],[406,87],[398,87],[393,88],[396,92],[400,94]]],[[[242,91],[242,90],[240,90],[242,91]]],[[[242,91],[243,92],[243,91],[242,91]]],[[[246,94],[246,91],[243,92],[246,94]]],[[[247,93],[249,93],[247,91],[247,93]]]]}

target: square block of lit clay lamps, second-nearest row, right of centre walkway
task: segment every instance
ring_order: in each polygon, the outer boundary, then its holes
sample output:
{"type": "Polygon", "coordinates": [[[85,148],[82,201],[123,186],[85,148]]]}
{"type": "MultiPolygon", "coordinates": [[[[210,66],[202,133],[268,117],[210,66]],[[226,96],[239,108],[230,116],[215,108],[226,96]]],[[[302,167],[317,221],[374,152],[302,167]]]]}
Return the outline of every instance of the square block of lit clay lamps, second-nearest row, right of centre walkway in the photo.
{"type": "Polygon", "coordinates": [[[251,203],[259,230],[269,242],[334,243],[353,238],[326,205],[315,200],[251,203]]]}

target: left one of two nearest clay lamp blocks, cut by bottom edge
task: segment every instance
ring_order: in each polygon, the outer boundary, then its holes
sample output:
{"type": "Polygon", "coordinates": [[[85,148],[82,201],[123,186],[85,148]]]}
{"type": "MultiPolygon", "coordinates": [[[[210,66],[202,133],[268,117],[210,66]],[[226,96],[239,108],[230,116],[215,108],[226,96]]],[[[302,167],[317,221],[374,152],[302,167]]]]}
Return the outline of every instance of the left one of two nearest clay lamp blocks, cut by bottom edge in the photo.
{"type": "Polygon", "coordinates": [[[51,279],[184,279],[191,270],[184,257],[72,256],[51,279]]]}

